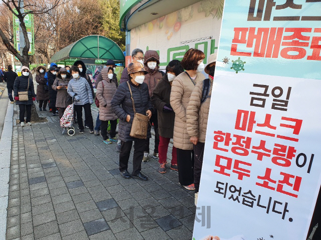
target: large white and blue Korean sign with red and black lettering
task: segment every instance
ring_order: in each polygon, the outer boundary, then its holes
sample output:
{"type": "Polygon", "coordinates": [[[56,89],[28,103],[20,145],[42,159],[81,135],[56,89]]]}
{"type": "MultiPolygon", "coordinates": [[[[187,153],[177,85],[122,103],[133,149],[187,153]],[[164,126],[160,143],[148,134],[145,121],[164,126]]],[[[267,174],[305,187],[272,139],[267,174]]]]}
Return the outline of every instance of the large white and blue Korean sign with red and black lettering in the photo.
{"type": "Polygon", "coordinates": [[[320,9],[225,1],[195,240],[306,239],[321,180],[320,9]]]}

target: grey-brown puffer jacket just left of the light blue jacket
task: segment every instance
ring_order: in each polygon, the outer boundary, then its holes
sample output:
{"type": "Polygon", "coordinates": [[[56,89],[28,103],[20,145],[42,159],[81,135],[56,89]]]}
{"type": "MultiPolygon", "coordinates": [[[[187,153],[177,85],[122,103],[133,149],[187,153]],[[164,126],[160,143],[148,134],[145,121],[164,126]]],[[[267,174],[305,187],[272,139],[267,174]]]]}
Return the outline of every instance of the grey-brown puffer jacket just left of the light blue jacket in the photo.
{"type": "Polygon", "coordinates": [[[72,98],[68,94],[66,88],[58,89],[57,86],[68,86],[70,81],[70,73],[67,74],[65,79],[62,79],[61,72],[57,73],[57,78],[52,85],[52,88],[57,91],[56,107],[67,107],[72,103],[72,98]]]}

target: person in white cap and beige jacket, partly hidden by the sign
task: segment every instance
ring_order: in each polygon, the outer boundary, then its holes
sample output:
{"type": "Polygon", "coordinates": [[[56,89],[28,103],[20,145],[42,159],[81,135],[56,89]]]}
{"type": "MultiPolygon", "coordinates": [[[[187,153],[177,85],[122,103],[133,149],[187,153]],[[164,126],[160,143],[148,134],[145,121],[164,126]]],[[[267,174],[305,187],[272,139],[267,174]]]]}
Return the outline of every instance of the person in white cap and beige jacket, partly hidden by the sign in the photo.
{"type": "Polygon", "coordinates": [[[203,99],[203,86],[205,81],[199,81],[191,94],[189,105],[186,109],[186,127],[190,136],[190,141],[194,144],[194,185],[195,185],[195,205],[197,205],[201,171],[203,164],[205,137],[207,120],[209,117],[211,92],[215,72],[217,53],[209,56],[205,72],[209,74],[210,89],[208,95],[203,99]],[[203,102],[202,102],[203,100],[203,102]]]}

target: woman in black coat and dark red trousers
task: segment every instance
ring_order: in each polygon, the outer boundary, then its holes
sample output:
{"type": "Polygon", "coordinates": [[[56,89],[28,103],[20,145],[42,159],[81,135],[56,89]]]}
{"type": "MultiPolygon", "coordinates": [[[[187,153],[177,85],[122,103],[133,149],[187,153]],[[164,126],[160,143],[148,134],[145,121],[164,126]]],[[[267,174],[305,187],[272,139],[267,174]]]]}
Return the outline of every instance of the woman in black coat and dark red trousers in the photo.
{"type": "MultiPolygon", "coordinates": [[[[166,67],[166,74],[155,86],[152,92],[151,101],[157,109],[158,134],[159,134],[159,168],[161,173],[166,172],[167,151],[174,133],[175,112],[170,104],[172,82],[174,78],[184,71],[179,60],[172,60],[166,67]]],[[[171,169],[178,170],[176,147],[172,150],[171,169]]]]}

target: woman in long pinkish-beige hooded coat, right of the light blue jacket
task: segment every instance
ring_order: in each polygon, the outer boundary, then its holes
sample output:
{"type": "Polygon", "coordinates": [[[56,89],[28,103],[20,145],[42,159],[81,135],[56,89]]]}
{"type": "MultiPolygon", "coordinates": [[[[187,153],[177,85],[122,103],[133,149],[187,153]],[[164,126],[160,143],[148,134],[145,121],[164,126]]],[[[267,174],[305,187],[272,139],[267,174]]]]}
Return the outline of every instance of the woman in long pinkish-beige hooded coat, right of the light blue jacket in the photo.
{"type": "Polygon", "coordinates": [[[116,91],[116,84],[112,81],[114,69],[109,67],[101,70],[102,81],[97,85],[96,97],[99,100],[100,131],[106,144],[117,141],[116,126],[117,116],[111,109],[111,98],[116,91]],[[107,135],[108,121],[110,122],[110,138],[107,135]]]}

